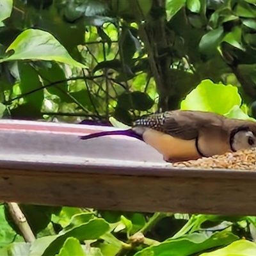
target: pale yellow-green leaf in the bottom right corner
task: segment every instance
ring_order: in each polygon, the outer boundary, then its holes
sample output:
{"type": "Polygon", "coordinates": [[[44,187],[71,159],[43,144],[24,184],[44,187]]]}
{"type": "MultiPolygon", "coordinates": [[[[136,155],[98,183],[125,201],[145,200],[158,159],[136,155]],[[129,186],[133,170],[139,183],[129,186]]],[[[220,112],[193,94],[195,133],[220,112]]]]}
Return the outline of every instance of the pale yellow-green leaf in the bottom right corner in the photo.
{"type": "Polygon", "coordinates": [[[256,255],[256,244],[247,240],[235,241],[225,248],[214,252],[202,253],[200,256],[252,256],[256,255]]]}

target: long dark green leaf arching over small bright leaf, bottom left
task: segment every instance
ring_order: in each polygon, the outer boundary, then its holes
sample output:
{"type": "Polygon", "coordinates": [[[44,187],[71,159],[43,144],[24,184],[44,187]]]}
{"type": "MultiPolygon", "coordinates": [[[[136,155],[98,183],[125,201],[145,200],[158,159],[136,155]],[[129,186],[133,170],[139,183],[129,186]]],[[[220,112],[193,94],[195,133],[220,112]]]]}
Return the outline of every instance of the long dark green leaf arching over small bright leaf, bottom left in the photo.
{"type": "Polygon", "coordinates": [[[58,253],[68,237],[75,237],[79,241],[99,239],[100,236],[108,232],[109,224],[101,219],[90,220],[88,223],[68,230],[65,234],[58,236],[46,248],[42,256],[54,256],[58,253]]]}

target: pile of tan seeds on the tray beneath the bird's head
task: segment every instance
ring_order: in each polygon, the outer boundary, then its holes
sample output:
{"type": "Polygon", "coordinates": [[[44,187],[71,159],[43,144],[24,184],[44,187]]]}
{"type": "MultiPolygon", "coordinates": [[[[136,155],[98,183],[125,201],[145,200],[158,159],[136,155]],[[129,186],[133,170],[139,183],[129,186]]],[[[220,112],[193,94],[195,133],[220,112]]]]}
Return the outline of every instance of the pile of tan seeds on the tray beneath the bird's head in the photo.
{"type": "Polygon", "coordinates": [[[256,149],[239,150],[220,156],[202,157],[197,160],[173,163],[175,167],[193,167],[205,169],[256,170],[256,149]]]}

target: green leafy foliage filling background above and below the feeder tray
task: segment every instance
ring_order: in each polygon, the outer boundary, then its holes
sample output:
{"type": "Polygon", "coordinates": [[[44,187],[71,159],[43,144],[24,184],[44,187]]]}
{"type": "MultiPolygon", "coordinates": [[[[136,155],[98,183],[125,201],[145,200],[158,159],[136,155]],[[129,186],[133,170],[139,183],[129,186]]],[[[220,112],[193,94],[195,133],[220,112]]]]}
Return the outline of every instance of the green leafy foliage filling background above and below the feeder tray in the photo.
{"type": "MultiPolygon", "coordinates": [[[[255,18],[251,0],[0,1],[0,115],[118,127],[177,108],[253,119],[255,18]]],[[[19,207],[36,239],[24,242],[4,204],[0,255],[256,254],[252,216],[19,207]]]]}

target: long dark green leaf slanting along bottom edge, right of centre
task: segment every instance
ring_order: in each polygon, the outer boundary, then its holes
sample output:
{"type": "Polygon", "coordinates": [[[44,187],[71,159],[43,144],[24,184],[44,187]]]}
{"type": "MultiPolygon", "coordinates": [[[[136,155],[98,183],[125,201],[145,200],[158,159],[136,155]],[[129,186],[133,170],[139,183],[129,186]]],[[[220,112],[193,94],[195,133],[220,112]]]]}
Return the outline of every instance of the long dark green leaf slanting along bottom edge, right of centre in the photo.
{"type": "MultiPolygon", "coordinates": [[[[135,253],[134,256],[188,256],[217,246],[227,245],[239,237],[231,232],[215,232],[211,237],[205,234],[193,233],[178,239],[170,239],[156,246],[149,246],[135,253]]],[[[214,255],[215,256],[215,255],[214,255]]]]}

